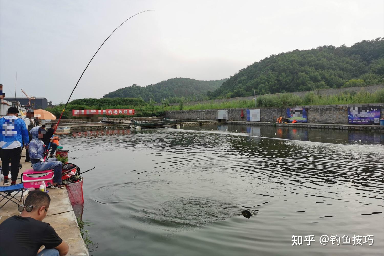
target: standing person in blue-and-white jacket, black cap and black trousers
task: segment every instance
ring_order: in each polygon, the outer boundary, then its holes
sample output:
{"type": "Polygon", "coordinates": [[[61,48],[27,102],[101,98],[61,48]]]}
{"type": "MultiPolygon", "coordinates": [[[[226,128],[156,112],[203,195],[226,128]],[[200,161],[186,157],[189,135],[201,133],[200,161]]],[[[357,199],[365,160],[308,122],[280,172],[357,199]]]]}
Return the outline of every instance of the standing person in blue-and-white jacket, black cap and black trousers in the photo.
{"type": "Polygon", "coordinates": [[[11,185],[16,184],[19,174],[19,164],[21,159],[22,145],[28,149],[29,136],[25,123],[18,118],[19,110],[17,107],[10,107],[7,116],[0,119],[0,148],[2,169],[4,173],[4,185],[8,185],[9,163],[11,163],[12,181],[11,185]]]}

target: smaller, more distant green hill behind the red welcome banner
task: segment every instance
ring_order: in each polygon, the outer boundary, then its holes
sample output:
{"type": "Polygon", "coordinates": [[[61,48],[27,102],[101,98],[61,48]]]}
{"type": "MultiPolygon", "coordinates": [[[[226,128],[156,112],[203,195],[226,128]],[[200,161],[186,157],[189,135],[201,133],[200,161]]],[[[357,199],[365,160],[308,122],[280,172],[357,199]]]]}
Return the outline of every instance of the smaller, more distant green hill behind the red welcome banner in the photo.
{"type": "Polygon", "coordinates": [[[160,102],[162,99],[170,97],[184,97],[186,100],[195,101],[196,97],[202,99],[202,95],[209,91],[219,88],[227,79],[200,81],[190,78],[171,78],[167,81],[161,81],[157,84],[147,86],[127,86],[116,91],[109,92],[103,98],[130,97],[142,98],[149,101],[149,98],[160,102]],[[192,90],[193,88],[193,90],[192,90]]]}

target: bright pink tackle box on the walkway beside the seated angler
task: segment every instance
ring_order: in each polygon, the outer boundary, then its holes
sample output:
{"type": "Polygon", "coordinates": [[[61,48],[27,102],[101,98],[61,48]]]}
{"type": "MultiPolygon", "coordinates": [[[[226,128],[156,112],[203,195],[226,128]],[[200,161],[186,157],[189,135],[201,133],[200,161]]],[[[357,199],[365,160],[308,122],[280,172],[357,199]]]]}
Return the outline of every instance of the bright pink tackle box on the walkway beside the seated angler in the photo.
{"type": "Polygon", "coordinates": [[[25,170],[25,172],[22,173],[22,182],[25,188],[39,189],[40,185],[43,184],[43,182],[45,182],[45,186],[48,187],[53,183],[53,170],[25,170]]]}

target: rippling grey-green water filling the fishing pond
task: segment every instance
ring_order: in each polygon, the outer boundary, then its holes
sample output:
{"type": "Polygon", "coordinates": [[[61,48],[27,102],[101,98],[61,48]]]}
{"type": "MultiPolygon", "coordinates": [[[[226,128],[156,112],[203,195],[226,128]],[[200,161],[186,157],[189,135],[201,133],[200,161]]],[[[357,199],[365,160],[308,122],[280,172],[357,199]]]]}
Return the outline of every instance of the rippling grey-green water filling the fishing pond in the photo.
{"type": "Polygon", "coordinates": [[[83,132],[60,145],[78,149],[69,157],[81,170],[96,165],[83,175],[92,255],[382,255],[383,141],[185,126],[83,132]],[[314,242],[291,246],[293,235],[314,242]],[[322,235],[372,235],[374,244],[321,245],[322,235]]]}

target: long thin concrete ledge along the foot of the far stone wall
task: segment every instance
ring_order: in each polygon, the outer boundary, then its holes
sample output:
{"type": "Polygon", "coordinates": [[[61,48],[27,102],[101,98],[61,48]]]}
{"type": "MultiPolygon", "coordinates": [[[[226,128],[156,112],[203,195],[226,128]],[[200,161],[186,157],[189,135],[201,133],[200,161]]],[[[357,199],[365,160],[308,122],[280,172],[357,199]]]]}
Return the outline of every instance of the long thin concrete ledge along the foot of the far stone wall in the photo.
{"type": "Polygon", "coordinates": [[[309,123],[272,123],[272,122],[248,122],[248,121],[225,121],[225,124],[245,126],[284,126],[317,129],[343,129],[343,130],[369,130],[372,132],[384,132],[384,126],[376,125],[353,125],[353,124],[309,124],[309,123]]]}

